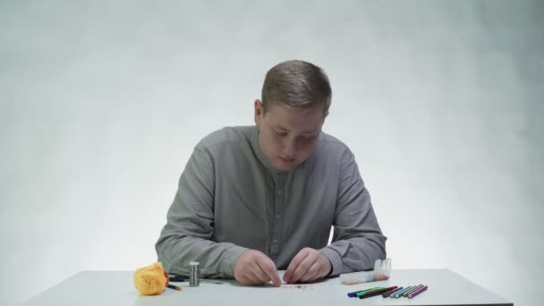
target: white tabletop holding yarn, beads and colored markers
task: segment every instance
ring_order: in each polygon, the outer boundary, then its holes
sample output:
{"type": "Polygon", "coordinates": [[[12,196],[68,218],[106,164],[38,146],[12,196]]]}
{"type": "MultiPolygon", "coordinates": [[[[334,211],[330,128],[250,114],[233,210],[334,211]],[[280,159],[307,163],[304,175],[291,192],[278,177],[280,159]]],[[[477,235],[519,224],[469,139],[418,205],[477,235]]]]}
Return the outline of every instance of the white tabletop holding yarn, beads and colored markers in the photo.
{"type": "Polygon", "coordinates": [[[341,285],[338,277],[309,285],[248,287],[234,280],[223,285],[182,285],[182,291],[166,288],[156,296],[141,296],[132,282],[132,271],[82,271],[69,277],[24,305],[514,305],[448,269],[399,269],[387,281],[341,285]],[[429,285],[413,299],[348,298],[347,293],[375,285],[429,285]]]}

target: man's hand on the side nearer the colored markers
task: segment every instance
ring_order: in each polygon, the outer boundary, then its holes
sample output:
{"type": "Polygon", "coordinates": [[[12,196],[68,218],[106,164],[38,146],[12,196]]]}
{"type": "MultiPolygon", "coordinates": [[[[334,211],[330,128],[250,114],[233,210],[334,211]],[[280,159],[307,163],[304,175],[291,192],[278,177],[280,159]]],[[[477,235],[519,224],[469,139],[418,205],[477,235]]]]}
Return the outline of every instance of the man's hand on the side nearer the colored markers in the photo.
{"type": "Polygon", "coordinates": [[[328,275],[332,265],[320,251],[304,248],[291,260],[285,271],[286,283],[306,283],[328,275]]]}

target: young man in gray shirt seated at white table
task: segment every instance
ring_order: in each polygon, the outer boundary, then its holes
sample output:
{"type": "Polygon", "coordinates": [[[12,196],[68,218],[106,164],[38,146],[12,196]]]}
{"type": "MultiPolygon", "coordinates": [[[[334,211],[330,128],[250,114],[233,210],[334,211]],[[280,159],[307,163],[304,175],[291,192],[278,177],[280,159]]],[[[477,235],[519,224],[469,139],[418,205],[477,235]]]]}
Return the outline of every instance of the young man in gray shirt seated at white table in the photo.
{"type": "Polygon", "coordinates": [[[197,260],[202,276],[279,286],[277,269],[303,283],[386,257],[352,152],[321,132],[331,95],[318,66],[277,64],[255,100],[256,126],[200,140],[156,245],[166,271],[189,275],[197,260]]]}

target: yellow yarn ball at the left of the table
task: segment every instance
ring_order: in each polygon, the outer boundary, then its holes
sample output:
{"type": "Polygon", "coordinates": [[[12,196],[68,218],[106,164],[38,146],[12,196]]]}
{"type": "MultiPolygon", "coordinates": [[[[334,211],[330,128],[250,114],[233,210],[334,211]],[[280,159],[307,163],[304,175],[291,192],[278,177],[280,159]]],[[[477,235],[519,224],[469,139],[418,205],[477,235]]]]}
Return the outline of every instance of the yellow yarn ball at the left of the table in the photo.
{"type": "Polygon", "coordinates": [[[151,266],[139,268],[134,272],[134,285],[143,295],[157,295],[165,290],[168,277],[160,262],[151,266]]]}

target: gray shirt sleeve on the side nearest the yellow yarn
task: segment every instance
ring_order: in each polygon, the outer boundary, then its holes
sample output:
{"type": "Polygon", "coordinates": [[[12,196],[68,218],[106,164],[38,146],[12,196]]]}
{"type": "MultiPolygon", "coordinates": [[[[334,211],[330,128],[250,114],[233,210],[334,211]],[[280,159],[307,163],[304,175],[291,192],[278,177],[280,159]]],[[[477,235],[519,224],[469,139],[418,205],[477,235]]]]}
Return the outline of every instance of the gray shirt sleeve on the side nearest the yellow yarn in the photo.
{"type": "Polygon", "coordinates": [[[199,261],[201,276],[234,276],[234,266],[247,249],[212,241],[214,189],[213,160],[208,151],[197,146],[183,170],[155,246],[167,272],[188,276],[189,263],[199,261]]]}

